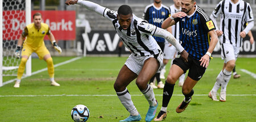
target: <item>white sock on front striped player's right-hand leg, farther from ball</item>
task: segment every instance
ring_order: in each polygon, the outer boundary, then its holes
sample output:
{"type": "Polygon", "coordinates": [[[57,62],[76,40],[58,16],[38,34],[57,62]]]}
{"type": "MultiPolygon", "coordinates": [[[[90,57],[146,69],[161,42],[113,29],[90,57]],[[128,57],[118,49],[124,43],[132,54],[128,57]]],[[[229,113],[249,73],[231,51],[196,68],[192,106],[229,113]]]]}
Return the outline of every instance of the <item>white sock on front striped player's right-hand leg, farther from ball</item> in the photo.
{"type": "Polygon", "coordinates": [[[152,87],[150,85],[147,84],[147,88],[143,91],[141,91],[143,93],[143,95],[145,96],[145,98],[147,99],[148,104],[150,104],[150,106],[156,106],[156,100],[155,100],[155,94],[154,91],[152,89],[152,87]]]}

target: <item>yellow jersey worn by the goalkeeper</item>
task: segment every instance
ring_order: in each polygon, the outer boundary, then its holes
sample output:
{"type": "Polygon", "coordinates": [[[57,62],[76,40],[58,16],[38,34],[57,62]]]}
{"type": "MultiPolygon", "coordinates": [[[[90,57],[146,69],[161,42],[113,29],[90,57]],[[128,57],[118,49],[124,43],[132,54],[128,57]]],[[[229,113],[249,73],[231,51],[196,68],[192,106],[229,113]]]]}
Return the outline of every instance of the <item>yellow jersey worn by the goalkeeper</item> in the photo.
{"type": "Polygon", "coordinates": [[[24,28],[22,36],[27,36],[24,43],[30,45],[31,48],[38,48],[44,45],[44,36],[49,35],[50,33],[51,31],[46,23],[41,23],[40,30],[35,28],[34,23],[31,23],[24,28]]]}

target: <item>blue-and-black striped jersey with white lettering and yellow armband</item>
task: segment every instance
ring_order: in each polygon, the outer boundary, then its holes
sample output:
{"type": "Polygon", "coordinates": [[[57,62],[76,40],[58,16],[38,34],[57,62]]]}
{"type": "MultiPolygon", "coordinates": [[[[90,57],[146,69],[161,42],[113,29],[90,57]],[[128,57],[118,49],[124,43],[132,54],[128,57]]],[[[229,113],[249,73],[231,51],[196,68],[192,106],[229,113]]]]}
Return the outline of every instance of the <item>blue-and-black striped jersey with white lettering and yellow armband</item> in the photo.
{"type": "Polygon", "coordinates": [[[200,60],[207,53],[210,43],[209,31],[215,30],[214,23],[199,6],[193,14],[175,18],[179,22],[181,45],[189,56],[200,60]]]}

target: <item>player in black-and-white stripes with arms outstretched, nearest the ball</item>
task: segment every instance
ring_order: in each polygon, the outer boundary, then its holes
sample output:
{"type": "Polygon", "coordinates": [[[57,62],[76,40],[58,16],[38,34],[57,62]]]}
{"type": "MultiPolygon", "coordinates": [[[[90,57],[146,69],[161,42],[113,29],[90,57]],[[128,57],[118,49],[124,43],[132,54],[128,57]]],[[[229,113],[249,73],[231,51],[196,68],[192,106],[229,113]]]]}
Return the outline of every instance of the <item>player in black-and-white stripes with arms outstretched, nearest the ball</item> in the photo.
{"type": "Polygon", "coordinates": [[[168,40],[178,49],[184,61],[188,61],[188,53],[179,43],[176,43],[175,37],[170,32],[138,18],[133,14],[130,6],[122,5],[118,11],[114,11],[89,1],[66,1],[67,5],[76,3],[110,20],[123,41],[123,45],[131,51],[114,83],[114,89],[119,100],[130,113],[129,117],[121,121],[140,121],[142,119],[131,100],[130,92],[126,88],[135,78],[137,78],[136,84],[139,90],[149,104],[145,120],[151,121],[155,117],[158,102],[152,87],[148,85],[148,81],[159,70],[163,62],[163,52],[152,36],[164,37],[168,40]]]}

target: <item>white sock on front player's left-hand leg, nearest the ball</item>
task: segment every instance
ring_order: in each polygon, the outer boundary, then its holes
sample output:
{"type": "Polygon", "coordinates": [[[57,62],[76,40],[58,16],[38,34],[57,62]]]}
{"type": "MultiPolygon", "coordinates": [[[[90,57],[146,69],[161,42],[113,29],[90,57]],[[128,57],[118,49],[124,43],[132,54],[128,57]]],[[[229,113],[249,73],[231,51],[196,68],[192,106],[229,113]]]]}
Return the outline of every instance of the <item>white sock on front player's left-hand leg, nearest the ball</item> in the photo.
{"type": "Polygon", "coordinates": [[[132,116],[138,116],[139,112],[135,108],[133,101],[131,100],[131,95],[127,89],[121,92],[117,92],[117,96],[123,106],[125,106],[126,110],[130,112],[130,115],[132,116]]]}

